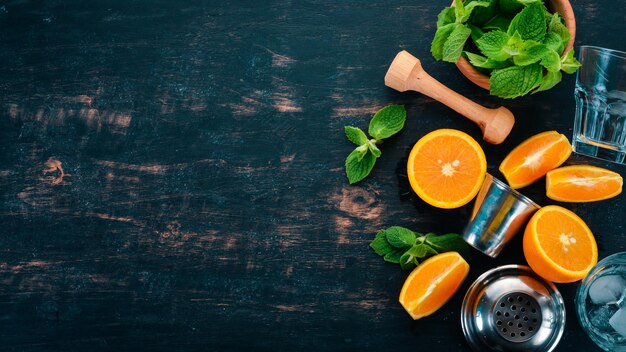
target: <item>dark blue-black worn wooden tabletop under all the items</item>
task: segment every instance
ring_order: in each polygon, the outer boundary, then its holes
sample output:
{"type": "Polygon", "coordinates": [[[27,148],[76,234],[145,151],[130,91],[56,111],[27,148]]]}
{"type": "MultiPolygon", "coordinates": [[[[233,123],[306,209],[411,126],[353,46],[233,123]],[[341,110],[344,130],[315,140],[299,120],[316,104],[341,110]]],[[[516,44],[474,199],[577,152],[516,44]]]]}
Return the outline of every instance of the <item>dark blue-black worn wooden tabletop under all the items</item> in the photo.
{"type": "MultiPolygon", "coordinates": [[[[523,264],[474,252],[460,292],[414,322],[407,275],[368,247],[378,229],[462,230],[469,209],[412,195],[405,159],[428,131],[478,129],[383,85],[401,49],[517,125],[481,141],[489,172],[517,143],[571,135],[574,76],[500,101],[429,45],[445,1],[1,1],[2,351],[467,351],[462,296],[485,270],[523,264]],[[349,186],[344,125],[406,104],[405,129],[349,186]]],[[[624,50],[623,1],[573,1],[576,44],[624,50]]],[[[573,156],[625,174],[626,168],[573,156]]],[[[543,181],[525,189],[553,204],[543,181]]],[[[626,250],[624,196],[566,205],[600,257],[626,250]]],[[[558,351],[597,350],[559,285],[558,351]]]]}

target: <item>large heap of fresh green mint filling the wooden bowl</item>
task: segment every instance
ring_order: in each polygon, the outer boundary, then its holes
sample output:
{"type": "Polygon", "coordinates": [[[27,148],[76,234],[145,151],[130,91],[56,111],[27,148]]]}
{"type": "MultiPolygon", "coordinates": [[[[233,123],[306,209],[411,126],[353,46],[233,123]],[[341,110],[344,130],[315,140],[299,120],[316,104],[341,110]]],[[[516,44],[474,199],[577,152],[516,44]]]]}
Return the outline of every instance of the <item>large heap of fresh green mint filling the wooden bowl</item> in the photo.
{"type": "Polygon", "coordinates": [[[457,0],[438,15],[431,52],[450,62],[465,55],[490,74],[492,95],[515,98],[554,87],[562,72],[576,72],[573,49],[561,56],[569,39],[562,18],[543,0],[457,0]],[[465,50],[468,38],[480,54],[465,50]]]}

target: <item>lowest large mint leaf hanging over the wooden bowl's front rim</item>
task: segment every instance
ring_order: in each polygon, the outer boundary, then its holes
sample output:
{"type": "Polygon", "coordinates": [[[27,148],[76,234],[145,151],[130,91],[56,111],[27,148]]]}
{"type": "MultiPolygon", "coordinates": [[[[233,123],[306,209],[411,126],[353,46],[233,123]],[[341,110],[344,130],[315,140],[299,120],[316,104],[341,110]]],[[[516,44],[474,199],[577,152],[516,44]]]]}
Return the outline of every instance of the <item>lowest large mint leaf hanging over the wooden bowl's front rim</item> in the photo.
{"type": "Polygon", "coordinates": [[[493,70],[489,79],[490,93],[500,98],[516,98],[537,87],[541,83],[541,76],[539,64],[493,70]]]}

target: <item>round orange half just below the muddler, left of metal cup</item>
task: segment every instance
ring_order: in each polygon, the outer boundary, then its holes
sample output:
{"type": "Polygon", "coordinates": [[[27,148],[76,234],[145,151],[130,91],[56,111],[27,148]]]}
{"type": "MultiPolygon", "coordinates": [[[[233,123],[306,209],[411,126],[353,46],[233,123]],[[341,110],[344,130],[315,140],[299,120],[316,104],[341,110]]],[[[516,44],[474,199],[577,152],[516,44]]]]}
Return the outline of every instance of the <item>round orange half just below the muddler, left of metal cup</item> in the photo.
{"type": "Polygon", "coordinates": [[[438,208],[467,204],[480,189],[487,161],[469,135],[451,129],[428,133],[413,146],[407,163],[411,187],[426,203],[438,208]]]}

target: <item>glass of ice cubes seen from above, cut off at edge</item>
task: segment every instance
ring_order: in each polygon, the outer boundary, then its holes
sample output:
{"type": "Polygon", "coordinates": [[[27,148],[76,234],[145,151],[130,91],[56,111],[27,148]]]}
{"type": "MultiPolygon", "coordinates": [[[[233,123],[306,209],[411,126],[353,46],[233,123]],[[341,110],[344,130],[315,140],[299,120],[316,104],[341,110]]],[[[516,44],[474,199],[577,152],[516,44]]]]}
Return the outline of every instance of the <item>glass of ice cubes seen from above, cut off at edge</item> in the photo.
{"type": "Polygon", "coordinates": [[[626,351],[626,252],[598,262],[576,294],[576,313],[587,335],[605,351],[626,351]]]}

